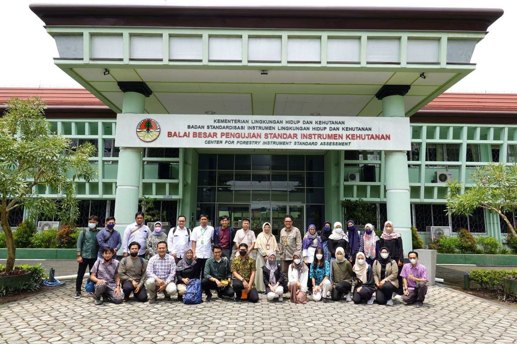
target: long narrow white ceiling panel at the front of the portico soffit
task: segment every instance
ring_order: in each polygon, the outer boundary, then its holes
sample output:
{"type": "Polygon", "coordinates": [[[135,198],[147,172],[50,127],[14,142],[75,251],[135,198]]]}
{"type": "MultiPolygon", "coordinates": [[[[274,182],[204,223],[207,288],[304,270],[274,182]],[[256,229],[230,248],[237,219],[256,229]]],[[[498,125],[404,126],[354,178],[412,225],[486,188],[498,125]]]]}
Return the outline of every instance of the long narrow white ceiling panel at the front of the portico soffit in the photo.
{"type": "Polygon", "coordinates": [[[146,82],[376,84],[383,85],[392,72],[275,71],[259,70],[137,69],[146,82]]]}

